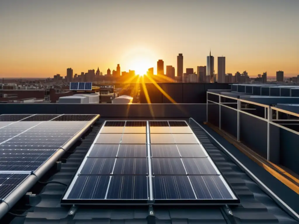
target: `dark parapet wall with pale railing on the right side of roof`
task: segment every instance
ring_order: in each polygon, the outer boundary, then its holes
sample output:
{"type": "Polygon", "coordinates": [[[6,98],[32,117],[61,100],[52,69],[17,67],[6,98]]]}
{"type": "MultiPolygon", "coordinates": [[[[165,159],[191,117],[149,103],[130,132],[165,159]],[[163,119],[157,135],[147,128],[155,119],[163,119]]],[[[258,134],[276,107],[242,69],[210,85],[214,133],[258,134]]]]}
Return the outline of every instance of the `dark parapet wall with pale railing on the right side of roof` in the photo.
{"type": "Polygon", "coordinates": [[[208,92],[207,103],[208,122],[270,162],[299,174],[298,113],[214,92],[208,92]]]}

